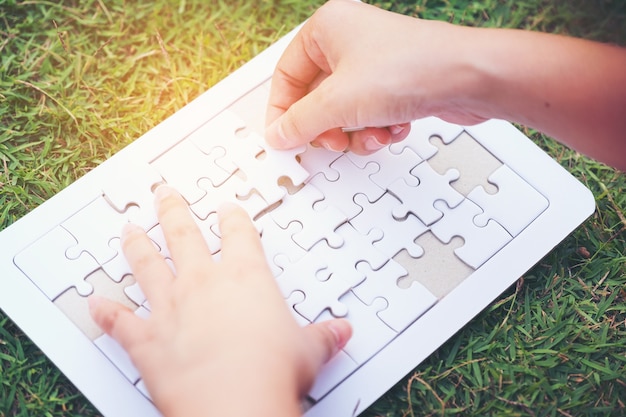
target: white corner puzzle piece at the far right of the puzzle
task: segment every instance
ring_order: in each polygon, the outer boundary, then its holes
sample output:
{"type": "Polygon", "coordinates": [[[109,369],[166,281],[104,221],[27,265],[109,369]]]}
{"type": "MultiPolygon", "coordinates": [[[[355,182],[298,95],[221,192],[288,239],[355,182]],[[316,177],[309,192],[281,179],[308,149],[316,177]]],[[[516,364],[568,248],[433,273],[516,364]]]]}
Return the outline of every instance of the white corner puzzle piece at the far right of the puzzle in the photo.
{"type": "Polygon", "coordinates": [[[477,226],[493,219],[517,236],[548,208],[548,200],[506,165],[494,171],[489,182],[498,187],[497,193],[487,193],[479,186],[467,196],[484,211],[474,218],[477,226]]]}

